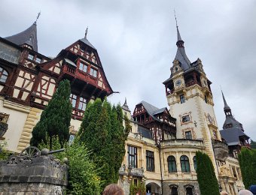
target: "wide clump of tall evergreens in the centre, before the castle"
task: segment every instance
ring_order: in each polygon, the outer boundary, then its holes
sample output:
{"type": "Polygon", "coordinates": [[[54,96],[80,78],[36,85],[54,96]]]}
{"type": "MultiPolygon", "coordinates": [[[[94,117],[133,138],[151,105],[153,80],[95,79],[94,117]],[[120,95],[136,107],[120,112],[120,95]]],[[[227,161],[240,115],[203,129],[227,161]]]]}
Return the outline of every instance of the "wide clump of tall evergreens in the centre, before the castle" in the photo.
{"type": "Polygon", "coordinates": [[[102,178],[102,189],[116,183],[119,169],[125,154],[125,141],[128,133],[123,128],[123,113],[120,105],[111,107],[108,101],[96,99],[88,104],[79,131],[81,142],[92,151],[90,157],[102,178]]]}

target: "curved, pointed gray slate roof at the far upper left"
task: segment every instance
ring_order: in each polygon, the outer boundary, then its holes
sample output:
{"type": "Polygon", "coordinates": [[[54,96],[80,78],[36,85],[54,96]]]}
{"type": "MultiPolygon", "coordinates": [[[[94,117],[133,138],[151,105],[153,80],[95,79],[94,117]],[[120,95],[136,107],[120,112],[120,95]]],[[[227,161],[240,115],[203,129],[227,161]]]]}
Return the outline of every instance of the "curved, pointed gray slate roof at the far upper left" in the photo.
{"type": "Polygon", "coordinates": [[[36,23],[33,23],[32,26],[27,28],[25,31],[22,31],[18,34],[14,34],[10,37],[5,37],[5,39],[19,46],[26,43],[29,46],[32,46],[32,49],[35,52],[38,52],[38,38],[37,38],[37,31],[36,31],[36,23]]]}

